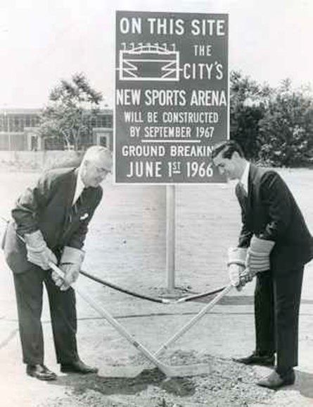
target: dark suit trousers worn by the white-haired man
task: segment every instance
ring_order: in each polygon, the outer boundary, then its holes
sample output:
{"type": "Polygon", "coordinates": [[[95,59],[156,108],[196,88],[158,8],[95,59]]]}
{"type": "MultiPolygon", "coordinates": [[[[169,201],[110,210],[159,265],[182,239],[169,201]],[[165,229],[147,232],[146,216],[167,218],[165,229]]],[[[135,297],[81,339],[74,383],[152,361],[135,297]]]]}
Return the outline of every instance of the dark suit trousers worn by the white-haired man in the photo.
{"type": "Polygon", "coordinates": [[[51,270],[43,270],[35,265],[26,272],[13,276],[23,362],[30,365],[44,363],[41,327],[43,285],[46,286],[49,298],[57,362],[71,363],[78,360],[75,291],[72,288],[60,291],[51,279],[51,270]]]}

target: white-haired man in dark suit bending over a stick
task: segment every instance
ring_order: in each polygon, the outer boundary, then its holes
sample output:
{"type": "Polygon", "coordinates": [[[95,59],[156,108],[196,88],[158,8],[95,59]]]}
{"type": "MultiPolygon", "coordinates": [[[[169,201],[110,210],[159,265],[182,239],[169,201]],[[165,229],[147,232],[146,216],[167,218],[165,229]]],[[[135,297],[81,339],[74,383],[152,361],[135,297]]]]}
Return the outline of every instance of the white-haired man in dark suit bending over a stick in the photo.
{"type": "Polygon", "coordinates": [[[100,183],[111,168],[111,152],[90,147],[78,168],[47,171],[25,190],[12,210],[4,253],[13,271],[23,362],[27,375],[37,379],[56,379],[44,365],[43,283],[60,370],[97,372],[78,356],[75,291],[70,285],[79,275],[88,224],[102,198],[100,183]],[[51,262],[64,272],[63,279],[51,272],[51,262]]]}

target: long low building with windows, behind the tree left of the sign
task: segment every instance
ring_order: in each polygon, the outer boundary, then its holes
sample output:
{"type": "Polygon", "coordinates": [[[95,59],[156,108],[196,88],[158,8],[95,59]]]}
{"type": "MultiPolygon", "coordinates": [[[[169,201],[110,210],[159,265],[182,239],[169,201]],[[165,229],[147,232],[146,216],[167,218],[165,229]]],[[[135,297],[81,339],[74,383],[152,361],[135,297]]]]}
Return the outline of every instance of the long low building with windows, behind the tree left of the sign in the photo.
{"type": "MultiPolygon", "coordinates": [[[[40,151],[63,150],[64,145],[55,139],[41,139],[38,134],[40,109],[0,110],[0,150],[40,151]]],[[[113,111],[101,109],[91,119],[92,132],[83,148],[103,145],[113,150],[113,111]]]]}

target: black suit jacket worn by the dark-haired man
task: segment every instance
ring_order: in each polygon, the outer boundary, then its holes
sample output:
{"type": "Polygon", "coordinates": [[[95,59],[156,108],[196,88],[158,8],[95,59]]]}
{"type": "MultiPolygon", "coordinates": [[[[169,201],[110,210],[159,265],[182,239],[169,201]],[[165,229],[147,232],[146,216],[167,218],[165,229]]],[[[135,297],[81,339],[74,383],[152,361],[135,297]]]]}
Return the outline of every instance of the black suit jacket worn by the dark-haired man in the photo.
{"type": "Polygon", "coordinates": [[[239,247],[248,247],[253,234],[275,241],[271,267],[279,274],[312,259],[313,238],[295,198],[279,174],[251,164],[248,198],[244,197],[239,185],[236,195],[243,222],[239,247]]]}

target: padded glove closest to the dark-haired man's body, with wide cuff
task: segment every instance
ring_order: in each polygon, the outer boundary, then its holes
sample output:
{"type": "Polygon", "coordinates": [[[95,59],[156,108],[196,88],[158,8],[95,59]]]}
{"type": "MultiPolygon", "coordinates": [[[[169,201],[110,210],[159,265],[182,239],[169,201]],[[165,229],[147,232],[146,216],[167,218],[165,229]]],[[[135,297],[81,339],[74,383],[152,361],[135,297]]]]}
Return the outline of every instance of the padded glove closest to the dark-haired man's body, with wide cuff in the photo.
{"type": "Polygon", "coordinates": [[[265,272],[270,269],[269,255],[274,247],[274,241],[257,238],[253,235],[248,248],[246,267],[251,273],[265,272]]]}

